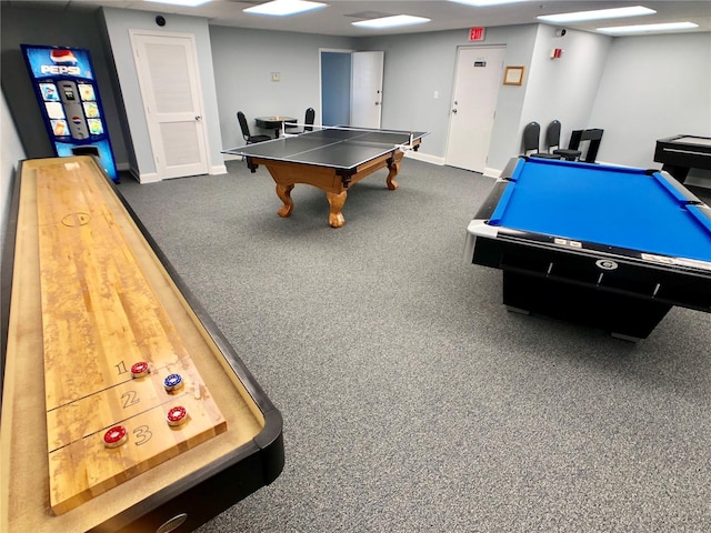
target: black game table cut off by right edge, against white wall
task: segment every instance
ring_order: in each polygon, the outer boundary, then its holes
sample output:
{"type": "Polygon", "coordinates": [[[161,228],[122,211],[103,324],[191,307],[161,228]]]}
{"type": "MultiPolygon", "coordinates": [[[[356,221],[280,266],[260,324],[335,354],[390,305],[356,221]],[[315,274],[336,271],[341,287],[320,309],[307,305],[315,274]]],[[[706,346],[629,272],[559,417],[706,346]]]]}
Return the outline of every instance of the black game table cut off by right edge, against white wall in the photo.
{"type": "Polygon", "coordinates": [[[683,183],[689,170],[711,170],[711,139],[698,135],[674,135],[657,141],[654,161],[662,164],[677,180],[683,183]]]}

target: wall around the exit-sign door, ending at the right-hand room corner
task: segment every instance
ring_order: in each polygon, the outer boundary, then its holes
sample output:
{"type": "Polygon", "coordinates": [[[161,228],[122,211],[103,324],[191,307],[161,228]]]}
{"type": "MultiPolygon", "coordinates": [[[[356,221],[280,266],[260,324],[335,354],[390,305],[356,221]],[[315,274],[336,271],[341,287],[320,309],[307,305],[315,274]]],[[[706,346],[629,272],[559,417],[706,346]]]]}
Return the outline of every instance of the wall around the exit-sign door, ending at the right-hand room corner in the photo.
{"type": "MultiPolygon", "coordinates": [[[[487,29],[475,46],[505,46],[505,66],[523,66],[522,86],[499,88],[488,172],[500,172],[510,158],[522,153],[523,127],[531,120],[542,130],[553,119],[562,122],[561,140],[568,144],[573,129],[588,128],[611,38],[569,31],[555,37],[543,24],[487,29]],[[564,48],[551,60],[552,48],[564,48]]],[[[471,47],[465,31],[369,38],[368,50],[385,51],[383,128],[430,131],[421,152],[444,160],[455,73],[457,52],[471,47]],[[439,99],[433,99],[434,91],[439,99]]]]}

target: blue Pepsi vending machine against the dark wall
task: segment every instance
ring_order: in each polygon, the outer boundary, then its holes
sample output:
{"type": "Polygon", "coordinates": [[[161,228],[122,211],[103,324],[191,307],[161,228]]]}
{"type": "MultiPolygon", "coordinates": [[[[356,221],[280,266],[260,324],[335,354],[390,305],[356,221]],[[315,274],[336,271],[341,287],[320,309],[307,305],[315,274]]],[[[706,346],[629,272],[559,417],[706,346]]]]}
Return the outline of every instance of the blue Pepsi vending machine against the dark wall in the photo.
{"type": "Polygon", "coordinates": [[[93,154],[114,181],[113,160],[89,50],[21,44],[54,154],[93,154]]]}

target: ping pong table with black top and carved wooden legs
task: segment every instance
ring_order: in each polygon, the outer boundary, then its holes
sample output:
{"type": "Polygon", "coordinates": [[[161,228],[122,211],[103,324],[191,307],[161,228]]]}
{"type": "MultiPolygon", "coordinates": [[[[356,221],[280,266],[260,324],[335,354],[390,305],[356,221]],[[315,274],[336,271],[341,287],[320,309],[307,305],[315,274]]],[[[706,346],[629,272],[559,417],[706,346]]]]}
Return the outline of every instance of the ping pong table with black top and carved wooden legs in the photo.
{"type": "Polygon", "coordinates": [[[264,165],[277,183],[283,207],[277,211],[289,217],[293,211],[291,190],[297,183],[318,187],[330,205],[329,224],[346,223],[342,209],[348,189],[356,182],[387,168],[388,189],[398,188],[395,177],[405,150],[417,150],[427,132],[333,127],[283,137],[267,142],[224,150],[241,155],[256,172],[264,165]]]}

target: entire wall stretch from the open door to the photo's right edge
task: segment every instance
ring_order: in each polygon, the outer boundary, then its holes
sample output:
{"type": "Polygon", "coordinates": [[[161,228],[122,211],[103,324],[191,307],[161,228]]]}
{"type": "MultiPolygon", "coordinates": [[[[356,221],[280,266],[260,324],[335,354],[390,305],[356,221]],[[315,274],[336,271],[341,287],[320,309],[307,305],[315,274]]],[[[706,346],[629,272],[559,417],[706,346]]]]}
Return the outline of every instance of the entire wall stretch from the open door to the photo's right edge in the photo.
{"type": "MultiPolygon", "coordinates": [[[[604,130],[598,160],[630,167],[653,162],[657,139],[711,137],[711,33],[610,38],[547,24],[490,28],[484,46],[505,44],[508,66],[524,66],[522,87],[502,86],[492,132],[491,173],[521,153],[523,125],[604,130]],[[550,50],[562,48],[561,59],[550,50]]],[[[464,32],[369,38],[360,49],[385,51],[383,127],[430,131],[421,152],[443,158],[457,48],[464,32]],[[440,100],[433,100],[439,89],[440,100]],[[414,124],[414,125],[413,125],[414,124]]]]}

